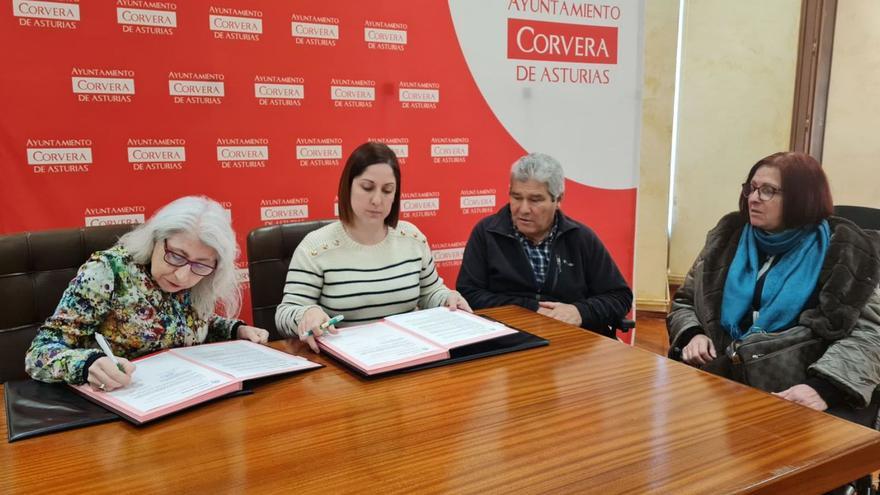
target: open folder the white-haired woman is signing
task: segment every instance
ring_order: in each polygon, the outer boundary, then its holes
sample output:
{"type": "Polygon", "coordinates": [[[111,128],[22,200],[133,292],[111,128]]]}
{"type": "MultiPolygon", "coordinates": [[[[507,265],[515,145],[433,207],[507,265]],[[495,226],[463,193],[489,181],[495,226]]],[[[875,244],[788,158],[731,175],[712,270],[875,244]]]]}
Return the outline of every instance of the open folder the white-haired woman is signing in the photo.
{"type": "Polygon", "coordinates": [[[129,421],[142,424],[241,390],[244,380],[321,366],[245,340],[168,349],[132,362],[137,369],[124,388],[112,392],[94,391],[89,385],[73,388],[129,421]]]}

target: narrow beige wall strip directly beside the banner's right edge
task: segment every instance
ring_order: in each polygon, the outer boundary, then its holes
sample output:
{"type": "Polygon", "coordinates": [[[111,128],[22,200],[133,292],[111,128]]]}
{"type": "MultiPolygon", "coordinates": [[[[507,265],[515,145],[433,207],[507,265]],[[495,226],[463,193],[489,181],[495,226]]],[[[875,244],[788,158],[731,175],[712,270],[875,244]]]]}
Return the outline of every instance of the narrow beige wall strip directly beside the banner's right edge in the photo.
{"type": "Polygon", "coordinates": [[[645,5],[635,287],[636,307],[649,311],[665,311],[668,300],[666,215],[669,204],[678,5],[678,0],[651,0],[645,5]]]}

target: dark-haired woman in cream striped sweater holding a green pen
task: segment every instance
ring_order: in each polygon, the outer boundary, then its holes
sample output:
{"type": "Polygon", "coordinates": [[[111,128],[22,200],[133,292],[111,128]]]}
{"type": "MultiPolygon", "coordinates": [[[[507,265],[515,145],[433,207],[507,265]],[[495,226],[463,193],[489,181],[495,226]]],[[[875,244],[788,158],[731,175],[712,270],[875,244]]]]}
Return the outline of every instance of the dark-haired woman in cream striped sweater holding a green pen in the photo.
{"type": "MultiPolygon", "coordinates": [[[[382,143],[360,145],[339,178],[339,221],[308,234],[290,260],[278,330],[318,352],[317,327],[345,315],[343,325],[366,323],[416,308],[470,311],[434,266],[428,240],[399,221],[400,166],[382,143]]],[[[331,327],[332,328],[332,327],[331,327]]]]}

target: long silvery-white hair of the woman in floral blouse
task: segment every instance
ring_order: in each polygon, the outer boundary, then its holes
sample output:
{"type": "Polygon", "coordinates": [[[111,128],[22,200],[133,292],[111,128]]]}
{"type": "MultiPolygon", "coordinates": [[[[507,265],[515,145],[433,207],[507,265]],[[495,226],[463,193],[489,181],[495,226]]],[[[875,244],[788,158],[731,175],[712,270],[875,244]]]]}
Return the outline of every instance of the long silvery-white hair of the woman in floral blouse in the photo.
{"type": "Polygon", "coordinates": [[[241,289],[235,275],[238,244],[229,213],[220,203],[204,196],[176,199],[122,236],[117,244],[131,254],[135,263],[144,265],[150,262],[157,242],[181,232],[195,235],[217,252],[217,268],[191,289],[196,313],[208,319],[219,303],[226,316],[237,316],[241,308],[241,289]]]}

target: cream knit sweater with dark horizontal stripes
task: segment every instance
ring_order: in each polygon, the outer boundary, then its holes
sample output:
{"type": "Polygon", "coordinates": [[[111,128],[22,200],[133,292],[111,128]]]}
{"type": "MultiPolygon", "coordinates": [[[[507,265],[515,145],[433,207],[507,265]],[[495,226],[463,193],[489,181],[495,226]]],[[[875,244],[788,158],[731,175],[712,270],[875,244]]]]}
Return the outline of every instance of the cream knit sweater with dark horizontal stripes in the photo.
{"type": "Polygon", "coordinates": [[[434,266],[425,236],[413,224],[398,222],[372,246],[355,242],[334,222],[309,233],[290,260],[284,298],[275,325],[296,336],[309,308],[345,315],[340,326],[442,305],[450,294],[434,266]]]}

